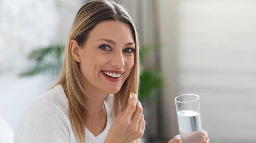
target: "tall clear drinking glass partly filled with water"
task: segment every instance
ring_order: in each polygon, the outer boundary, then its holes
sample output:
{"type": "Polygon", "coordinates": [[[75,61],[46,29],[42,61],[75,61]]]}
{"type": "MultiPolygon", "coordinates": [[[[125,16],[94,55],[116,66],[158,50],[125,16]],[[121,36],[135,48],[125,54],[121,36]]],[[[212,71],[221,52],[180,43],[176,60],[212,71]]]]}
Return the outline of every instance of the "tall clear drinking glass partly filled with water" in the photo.
{"type": "Polygon", "coordinates": [[[202,143],[199,95],[183,94],[175,98],[182,143],[202,143]]]}

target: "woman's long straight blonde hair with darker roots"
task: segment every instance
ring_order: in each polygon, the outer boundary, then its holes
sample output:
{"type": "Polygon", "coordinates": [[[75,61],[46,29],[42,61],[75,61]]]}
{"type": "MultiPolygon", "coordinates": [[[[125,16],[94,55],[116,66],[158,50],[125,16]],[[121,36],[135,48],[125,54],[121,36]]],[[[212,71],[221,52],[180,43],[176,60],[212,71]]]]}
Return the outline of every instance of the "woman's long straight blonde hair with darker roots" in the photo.
{"type": "MultiPolygon", "coordinates": [[[[65,46],[65,56],[62,70],[55,84],[61,84],[65,89],[69,101],[69,118],[75,137],[79,142],[85,142],[85,119],[87,106],[85,103],[87,90],[84,83],[79,64],[73,58],[70,51],[70,41],[75,39],[80,47],[84,45],[90,31],[100,22],[116,21],[128,24],[131,27],[134,41],[134,66],[130,75],[122,85],[121,89],[114,96],[114,113],[117,116],[128,105],[128,95],[130,92],[138,94],[139,87],[139,40],[130,15],[121,5],[107,0],[96,0],[85,4],[76,14],[71,27],[69,38],[65,46]],[[77,136],[78,135],[78,136],[77,136]]],[[[139,139],[136,140],[139,142],[139,139]]]]}

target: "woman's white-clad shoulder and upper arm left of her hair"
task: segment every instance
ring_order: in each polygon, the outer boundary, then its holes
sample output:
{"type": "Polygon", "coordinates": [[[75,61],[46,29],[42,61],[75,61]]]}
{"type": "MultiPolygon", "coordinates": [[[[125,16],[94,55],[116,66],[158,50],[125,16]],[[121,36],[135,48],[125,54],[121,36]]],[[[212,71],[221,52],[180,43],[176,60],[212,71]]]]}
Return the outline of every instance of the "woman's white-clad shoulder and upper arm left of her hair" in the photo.
{"type": "Polygon", "coordinates": [[[69,140],[72,129],[66,113],[68,103],[63,93],[56,86],[34,99],[16,126],[14,141],[44,142],[46,138],[50,142],[69,140]]]}

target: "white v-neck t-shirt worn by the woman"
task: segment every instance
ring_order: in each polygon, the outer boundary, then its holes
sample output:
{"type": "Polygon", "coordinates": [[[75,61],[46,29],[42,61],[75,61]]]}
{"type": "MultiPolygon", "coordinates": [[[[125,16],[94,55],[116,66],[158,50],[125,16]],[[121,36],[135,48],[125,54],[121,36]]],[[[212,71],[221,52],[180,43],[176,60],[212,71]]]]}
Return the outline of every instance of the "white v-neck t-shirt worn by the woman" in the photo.
{"type": "MultiPolygon", "coordinates": [[[[114,95],[104,101],[107,113],[105,129],[94,136],[85,129],[86,143],[103,143],[109,127],[115,120],[114,95]]],[[[68,99],[61,85],[55,86],[34,99],[21,116],[14,132],[14,143],[75,143],[69,120],[68,99]]]]}

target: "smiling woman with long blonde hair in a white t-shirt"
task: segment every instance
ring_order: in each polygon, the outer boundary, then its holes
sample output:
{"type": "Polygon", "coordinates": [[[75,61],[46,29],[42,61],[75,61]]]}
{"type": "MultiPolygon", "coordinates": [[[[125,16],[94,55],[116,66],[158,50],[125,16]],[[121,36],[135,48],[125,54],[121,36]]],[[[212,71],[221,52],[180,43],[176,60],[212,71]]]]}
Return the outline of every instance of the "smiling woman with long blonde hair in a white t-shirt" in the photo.
{"type": "Polygon", "coordinates": [[[89,2],[75,17],[56,84],[26,109],[14,142],[140,142],[138,85],[131,17],[115,2],[89,2]]]}

